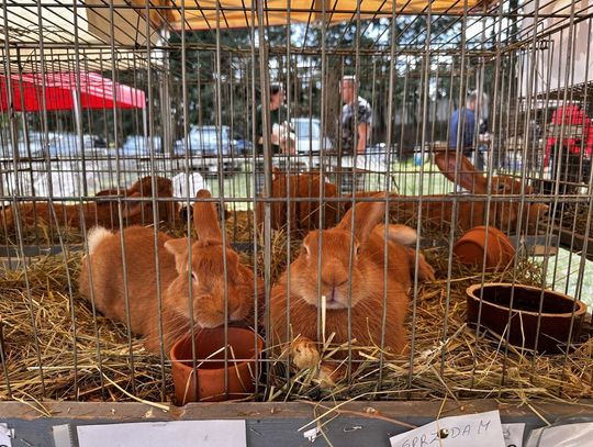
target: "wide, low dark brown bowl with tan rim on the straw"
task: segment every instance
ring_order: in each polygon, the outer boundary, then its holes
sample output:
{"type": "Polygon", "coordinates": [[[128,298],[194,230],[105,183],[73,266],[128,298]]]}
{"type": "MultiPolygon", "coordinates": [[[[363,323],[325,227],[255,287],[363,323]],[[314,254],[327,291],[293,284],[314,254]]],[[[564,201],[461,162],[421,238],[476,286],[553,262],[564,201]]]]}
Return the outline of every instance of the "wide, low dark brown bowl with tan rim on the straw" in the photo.
{"type": "Polygon", "coordinates": [[[468,323],[478,323],[482,293],[482,313],[480,325],[505,337],[512,345],[535,349],[540,354],[566,351],[569,335],[571,342],[579,338],[586,305],[571,297],[551,290],[544,290],[542,309],[539,314],[541,289],[537,287],[511,283],[475,284],[467,289],[468,323]],[[482,290],[482,292],[481,292],[482,290]],[[511,294],[513,293],[513,310],[511,294]],[[574,310],[574,312],[572,312],[574,310]],[[506,329],[508,313],[511,327],[506,329]],[[539,319],[539,334],[538,334],[539,319]],[[571,332],[572,323],[572,332],[571,332]],[[508,335],[508,338],[506,336],[508,335]]]}

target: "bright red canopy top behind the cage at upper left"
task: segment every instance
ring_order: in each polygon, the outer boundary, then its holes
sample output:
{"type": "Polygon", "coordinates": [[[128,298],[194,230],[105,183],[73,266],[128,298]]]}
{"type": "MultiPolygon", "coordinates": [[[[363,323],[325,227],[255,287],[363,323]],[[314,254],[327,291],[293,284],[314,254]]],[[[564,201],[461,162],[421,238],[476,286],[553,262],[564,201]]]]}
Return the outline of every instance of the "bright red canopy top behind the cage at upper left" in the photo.
{"type": "MultiPolygon", "coordinates": [[[[75,109],[75,92],[78,92],[76,72],[51,72],[11,75],[12,100],[16,112],[38,112],[43,110],[42,86],[45,86],[45,110],[75,109]],[[21,99],[21,92],[24,101],[21,99]]],[[[80,103],[82,109],[144,109],[145,93],[97,72],[80,72],[80,103]]],[[[0,112],[7,112],[8,79],[0,76],[0,112]]]]}

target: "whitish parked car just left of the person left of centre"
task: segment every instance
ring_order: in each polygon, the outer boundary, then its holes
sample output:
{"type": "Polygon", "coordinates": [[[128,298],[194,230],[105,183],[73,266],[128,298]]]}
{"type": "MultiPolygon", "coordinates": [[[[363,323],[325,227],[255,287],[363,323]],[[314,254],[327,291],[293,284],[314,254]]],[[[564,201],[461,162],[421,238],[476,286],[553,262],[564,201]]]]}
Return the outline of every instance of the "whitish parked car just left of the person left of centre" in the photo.
{"type": "MultiPolygon", "coordinates": [[[[226,125],[216,127],[214,125],[192,126],[188,135],[188,149],[197,155],[222,155],[232,154],[233,142],[231,139],[231,128],[226,125]]],[[[183,138],[174,144],[177,155],[186,153],[186,142],[183,138]]]]}

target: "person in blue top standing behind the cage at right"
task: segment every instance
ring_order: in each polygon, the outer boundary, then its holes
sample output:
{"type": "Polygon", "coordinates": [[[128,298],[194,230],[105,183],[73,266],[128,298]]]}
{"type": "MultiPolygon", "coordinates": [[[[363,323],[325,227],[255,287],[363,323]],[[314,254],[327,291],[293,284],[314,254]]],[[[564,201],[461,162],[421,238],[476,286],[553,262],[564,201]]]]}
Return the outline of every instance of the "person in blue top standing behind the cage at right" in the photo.
{"type": "MultiPolygon", "coordinates": [[[[478,170],[484,169],[484,159],[480,150],[478,149],[475,142],[475,109],[478,105],[478,93],[472,92],[466,100],[466,107],[463,109],[456,110],[451,115],[451,122],[449,126],[449,148],[452,150],[461,150],[461,153],[471,158],[475,155],[473,164],[478,170]],[[459,128],[459,147],[458,147],[458,126],[459,128]]],[[[482,130],[480,130],[482,133],[482,130]]]]}

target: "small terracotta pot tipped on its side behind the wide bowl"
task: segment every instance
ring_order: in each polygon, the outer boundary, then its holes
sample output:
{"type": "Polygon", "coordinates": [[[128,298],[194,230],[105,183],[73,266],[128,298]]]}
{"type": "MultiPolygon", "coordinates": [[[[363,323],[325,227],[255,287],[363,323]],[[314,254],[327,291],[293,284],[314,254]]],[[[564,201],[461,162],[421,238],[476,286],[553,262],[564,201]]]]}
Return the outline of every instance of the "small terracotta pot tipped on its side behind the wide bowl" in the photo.
{"type": "Polygon", "coordinates": [[[463,234],[454,246],[454,253],[461,264],[478,266],[480,269],[484,260],[484,250],[486,270],[504,269],[515,257],[515,248],[508,237],[493,226],[475,226],[463,234]]]}

